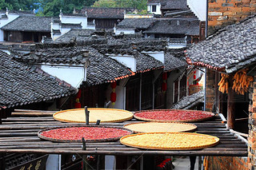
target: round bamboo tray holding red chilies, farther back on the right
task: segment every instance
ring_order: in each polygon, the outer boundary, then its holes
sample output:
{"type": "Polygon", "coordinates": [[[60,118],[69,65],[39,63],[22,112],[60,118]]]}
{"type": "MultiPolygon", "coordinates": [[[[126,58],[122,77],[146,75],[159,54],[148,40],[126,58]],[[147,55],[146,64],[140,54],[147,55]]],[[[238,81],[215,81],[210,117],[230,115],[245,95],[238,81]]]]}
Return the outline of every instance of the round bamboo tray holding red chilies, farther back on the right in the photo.
{"type": "Polygon", "coordinates": [[[206,121],[214,115],[201,110],[154,109],[135,112],[134,118],[142,121],[195,122],[206,121]]]}

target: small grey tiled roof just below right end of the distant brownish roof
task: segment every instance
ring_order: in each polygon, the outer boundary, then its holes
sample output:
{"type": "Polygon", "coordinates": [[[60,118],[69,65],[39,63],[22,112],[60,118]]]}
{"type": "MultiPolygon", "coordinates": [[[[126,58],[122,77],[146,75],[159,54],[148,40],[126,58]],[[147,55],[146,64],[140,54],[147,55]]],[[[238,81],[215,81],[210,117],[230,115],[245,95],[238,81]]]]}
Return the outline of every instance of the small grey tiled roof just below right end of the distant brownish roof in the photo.
{"type": "Polygon", "coordinates": [[[118,27],[133,26],[136,29],[147,29],[154,22],[154,18],[125,18],[118,23],[118,27]]]}

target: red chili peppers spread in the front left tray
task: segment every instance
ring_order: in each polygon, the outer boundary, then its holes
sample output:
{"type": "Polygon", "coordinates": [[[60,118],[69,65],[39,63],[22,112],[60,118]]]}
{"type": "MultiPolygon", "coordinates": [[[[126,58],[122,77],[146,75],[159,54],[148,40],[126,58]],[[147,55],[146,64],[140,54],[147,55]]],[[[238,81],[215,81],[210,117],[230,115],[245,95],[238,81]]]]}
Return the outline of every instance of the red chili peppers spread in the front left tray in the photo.
{"type": "Polygon", "coordinates": [[[129,135],[130,132],[121,128],[103,128],[103,127],[70,127],[54,128],[41,133],[57,140],[104,140],[129,135]]]}

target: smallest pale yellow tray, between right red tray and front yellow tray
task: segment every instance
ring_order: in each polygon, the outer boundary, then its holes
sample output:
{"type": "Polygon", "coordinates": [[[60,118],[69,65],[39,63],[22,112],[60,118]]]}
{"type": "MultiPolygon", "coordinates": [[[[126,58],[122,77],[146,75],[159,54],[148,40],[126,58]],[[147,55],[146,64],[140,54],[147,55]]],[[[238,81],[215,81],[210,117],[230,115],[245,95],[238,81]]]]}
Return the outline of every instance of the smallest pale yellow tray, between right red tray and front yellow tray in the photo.
{"type": "Polygon", "coordinates": [[[136,133],[139,132],[194,132],[198,127],[181,122],[142,122],[124,125],[136,133]]]}

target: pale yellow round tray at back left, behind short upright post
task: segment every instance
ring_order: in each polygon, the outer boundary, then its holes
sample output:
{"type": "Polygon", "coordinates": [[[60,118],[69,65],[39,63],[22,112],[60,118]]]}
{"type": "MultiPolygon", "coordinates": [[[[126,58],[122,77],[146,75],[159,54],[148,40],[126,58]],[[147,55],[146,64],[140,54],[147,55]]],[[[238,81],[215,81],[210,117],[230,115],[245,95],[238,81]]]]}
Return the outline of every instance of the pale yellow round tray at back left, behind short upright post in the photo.
{"type": "MultiPolygon", "coordinates": [[[[90,108],[89,122],[122,122],[133,118],[133,113],[122,109],[90,108]]],[[[68,109],[54,113],[54,119],[62,122],[85,123],[85,109],[68,109]]]]}

